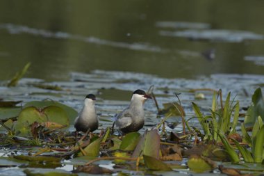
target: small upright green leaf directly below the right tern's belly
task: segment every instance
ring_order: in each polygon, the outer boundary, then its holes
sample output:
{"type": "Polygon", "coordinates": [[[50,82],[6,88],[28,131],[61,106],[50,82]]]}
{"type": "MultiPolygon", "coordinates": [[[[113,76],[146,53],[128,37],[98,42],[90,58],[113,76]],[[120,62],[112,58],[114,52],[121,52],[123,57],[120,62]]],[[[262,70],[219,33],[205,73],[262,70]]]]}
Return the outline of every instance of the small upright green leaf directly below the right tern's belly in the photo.
{"type": "Polygon", "coordinates": [[[132,132],[124,136],[120,145],[120,150],[133,151],[138,145],[140,134],[138,132],[132,132]]]}

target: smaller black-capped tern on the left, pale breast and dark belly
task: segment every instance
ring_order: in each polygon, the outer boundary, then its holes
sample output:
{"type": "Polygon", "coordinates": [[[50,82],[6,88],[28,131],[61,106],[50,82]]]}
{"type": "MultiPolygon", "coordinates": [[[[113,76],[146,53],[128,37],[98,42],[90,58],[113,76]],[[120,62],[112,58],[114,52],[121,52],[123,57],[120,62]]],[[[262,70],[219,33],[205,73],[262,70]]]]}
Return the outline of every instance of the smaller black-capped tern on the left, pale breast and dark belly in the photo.
{"type": "Polygon", "coordinates": [[[83,109],[74,121],[76,131],[83,131],[85,133],[88,129],[90,132],[98,129],[99,124],[94,106],[95,100],[96,97],[93,94],[89,94],[85,97],[83,109]]]}

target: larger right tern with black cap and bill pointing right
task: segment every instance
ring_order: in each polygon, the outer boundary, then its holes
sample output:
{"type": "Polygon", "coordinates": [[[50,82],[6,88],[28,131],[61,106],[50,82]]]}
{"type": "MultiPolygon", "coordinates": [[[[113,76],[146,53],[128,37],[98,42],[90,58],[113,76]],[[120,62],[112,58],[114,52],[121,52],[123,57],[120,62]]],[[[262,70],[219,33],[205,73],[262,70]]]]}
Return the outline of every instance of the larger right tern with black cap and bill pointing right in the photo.
{"type": "Polygon", "coordinates": [[[145,122],[143,105],[145,100],[151,98],[144,90],[133,92],[129,107],[115,115],[115,125],[123,132],[129,133],[142,129],[145,122]]]}

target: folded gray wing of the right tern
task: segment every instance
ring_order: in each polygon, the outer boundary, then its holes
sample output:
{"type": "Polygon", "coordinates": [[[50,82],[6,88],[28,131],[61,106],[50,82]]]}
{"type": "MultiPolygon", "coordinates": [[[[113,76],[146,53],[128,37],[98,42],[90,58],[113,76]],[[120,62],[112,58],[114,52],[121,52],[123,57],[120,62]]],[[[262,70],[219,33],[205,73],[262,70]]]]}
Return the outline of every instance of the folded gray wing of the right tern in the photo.
{"type": "Polygon", "coordinates": [[[125,109],[122,113],[117,115],[117,119],[115,120],[115,125],[119,127],[119,129],[128,127],[132,123],[131,113],[129,113],[129,109],[125,109]]]}

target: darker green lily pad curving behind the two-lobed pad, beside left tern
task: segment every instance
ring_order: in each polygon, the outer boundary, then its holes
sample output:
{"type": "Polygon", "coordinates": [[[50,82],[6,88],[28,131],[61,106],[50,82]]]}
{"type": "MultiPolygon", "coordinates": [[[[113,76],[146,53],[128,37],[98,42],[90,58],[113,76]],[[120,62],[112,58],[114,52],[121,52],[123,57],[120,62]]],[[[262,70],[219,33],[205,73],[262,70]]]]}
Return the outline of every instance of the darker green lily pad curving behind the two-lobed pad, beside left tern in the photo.
{"type": "Polygon", "coordinates": [[[52,101],[49,99],[45,99],[43,101],[28,102],[24,105],[24,108],[30,107],[30,106],[35,106],[38,109],[44,109],[47,106],[58,106],[65,111],[65,113],[67,114],[67,117],[69,118],[69,122],[71,124],[74,123],[75,118],[78,116],[78,112],[76,110],[74,110],[72,107],[69,107],[65,104],[62,104],[62,103],[56,102],[56,101],[52,101]]]}

